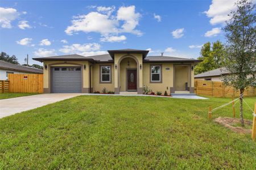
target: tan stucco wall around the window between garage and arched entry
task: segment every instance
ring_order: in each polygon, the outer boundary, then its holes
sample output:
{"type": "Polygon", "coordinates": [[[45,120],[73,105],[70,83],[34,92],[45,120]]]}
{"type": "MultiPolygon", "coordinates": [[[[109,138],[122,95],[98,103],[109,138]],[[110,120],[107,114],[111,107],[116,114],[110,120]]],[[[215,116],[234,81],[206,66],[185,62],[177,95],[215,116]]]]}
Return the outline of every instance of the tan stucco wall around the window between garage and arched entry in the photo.
{"type": "Polygon", "coordinates": [[[92,88],[93,88],[93,92],[94,91],[102,92],[104,87],[108,91],[114,91],[114,64],[113,63],[94,64],[92,66],[92,88]],[[112,83],[100,83],[100,66],[104,66],[104,65],[111,65],[112,83]]]}

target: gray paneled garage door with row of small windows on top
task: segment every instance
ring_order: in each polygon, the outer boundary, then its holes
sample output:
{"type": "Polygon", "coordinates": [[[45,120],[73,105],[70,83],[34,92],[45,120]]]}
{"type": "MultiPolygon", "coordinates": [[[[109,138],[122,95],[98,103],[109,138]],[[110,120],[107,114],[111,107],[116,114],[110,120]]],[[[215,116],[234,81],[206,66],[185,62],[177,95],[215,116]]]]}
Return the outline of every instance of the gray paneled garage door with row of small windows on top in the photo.
{"type": "Polygon", "coordinates": [[[81,67],[51,67],[52,93],[80,93],[81,67]]]}

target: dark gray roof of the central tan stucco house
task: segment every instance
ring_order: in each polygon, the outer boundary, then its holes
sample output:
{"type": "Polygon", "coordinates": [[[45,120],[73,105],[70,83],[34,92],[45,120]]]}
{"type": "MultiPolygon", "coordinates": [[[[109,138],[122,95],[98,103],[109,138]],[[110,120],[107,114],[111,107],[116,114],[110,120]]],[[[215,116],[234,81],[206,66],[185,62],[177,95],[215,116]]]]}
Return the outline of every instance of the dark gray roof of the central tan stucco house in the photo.
{"type": "MultiPolygon", "coordinates": [[[[138,50],[135,49],[122,49],[119,51],[133,50],[133,52],[138,53],[138,50]]],[[[80,56],[78,54],[64,55],[64,56],[52,56],[52,57],[40,57],[33,58],[36,61],[90,61],[92,63],[113,63],[112,51],[110,54],[102,54],[97,56],[80,56]]],[[[116,51],[116,50],[115,50],[116,51]]],[[[147,50],[141,50],[143,53],[147,53],[147,50]]],[[[200,62],[201,60],[193,58],[179,58],[179,57],[170,57],[170,56],[147,56],[144,58],[143,62],[200,62]]]]}

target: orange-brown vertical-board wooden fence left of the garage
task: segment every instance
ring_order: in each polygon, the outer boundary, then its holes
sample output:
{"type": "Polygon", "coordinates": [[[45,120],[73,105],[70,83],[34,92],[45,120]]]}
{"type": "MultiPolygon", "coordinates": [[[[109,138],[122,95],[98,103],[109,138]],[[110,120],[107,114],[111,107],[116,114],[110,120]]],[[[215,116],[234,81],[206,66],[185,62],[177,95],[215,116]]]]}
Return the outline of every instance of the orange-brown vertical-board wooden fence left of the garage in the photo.
{"type": "Polygon", "coordinates": [[[43,74],[9,74],[9,92],[43,93],[43,74]]]}

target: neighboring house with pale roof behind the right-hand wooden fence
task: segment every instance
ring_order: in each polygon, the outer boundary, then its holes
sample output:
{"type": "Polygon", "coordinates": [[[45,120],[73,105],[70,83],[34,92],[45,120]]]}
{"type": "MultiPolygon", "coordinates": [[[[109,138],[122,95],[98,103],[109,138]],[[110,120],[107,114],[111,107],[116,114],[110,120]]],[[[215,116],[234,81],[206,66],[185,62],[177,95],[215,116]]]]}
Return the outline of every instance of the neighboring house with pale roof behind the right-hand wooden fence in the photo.
{"type": "MultiPolygon", "coordinates": [[[[229,74],[229,71],[225,67],[210,70],[204,73],[195,75],[195,80],[209,80],[214,82],[222,82],[221,76],[229,74]]],[[[256,76],[256,71],[254,76],[256,76]]]]}

